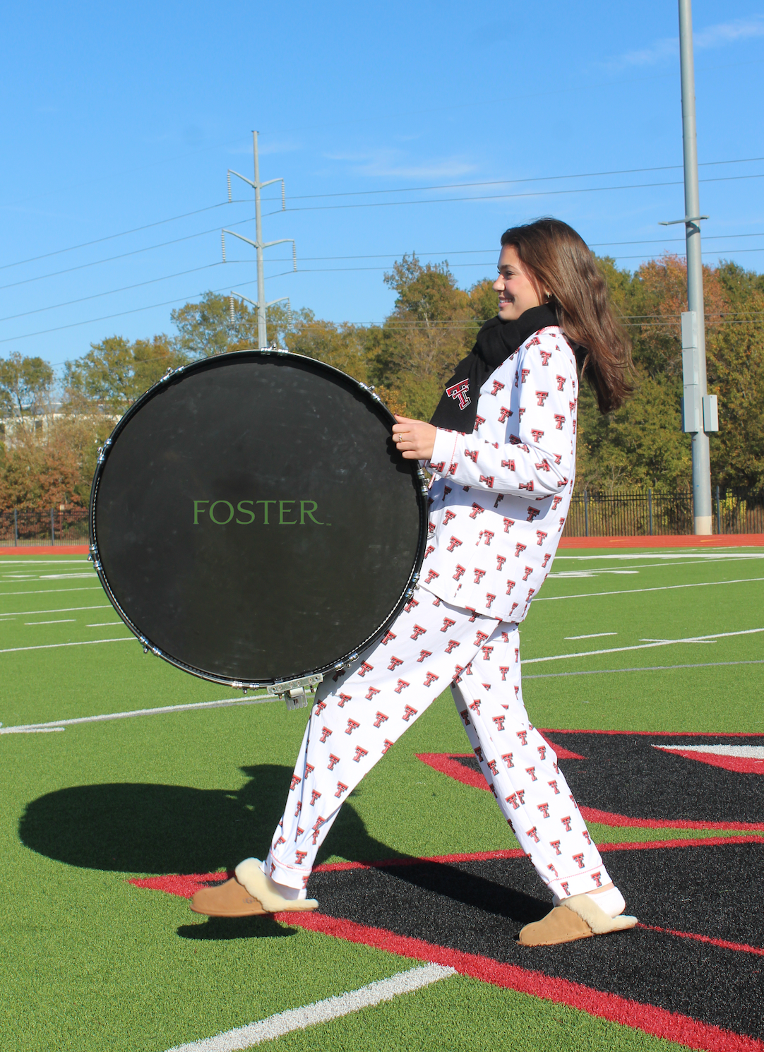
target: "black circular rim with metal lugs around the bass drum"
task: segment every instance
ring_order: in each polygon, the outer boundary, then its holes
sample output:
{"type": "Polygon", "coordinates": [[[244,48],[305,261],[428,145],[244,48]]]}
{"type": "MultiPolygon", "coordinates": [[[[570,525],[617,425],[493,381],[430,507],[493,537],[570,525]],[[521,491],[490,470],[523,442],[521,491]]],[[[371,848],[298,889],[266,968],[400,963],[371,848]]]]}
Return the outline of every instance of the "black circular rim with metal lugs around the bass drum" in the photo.
{"type": "Polygon", "coordinates": [[[356,650],[348,651],[343,654],[338,660],[327,664],[321,665],[315,669],[305,669],[302,672],[295,673],[294,675],[284,676],[283,679],[264,679],[258,681],[244,681],[237,680],[234,676],[217,675],[215,673],[205,671],[204,669],[198,668],[195,665],[189,665],[186,662],[181,661],[179,658],[175,658],[166,651],[162,650],[161,647],[157,646],[145,633],[141,631],[140,628],[130,620],[128,614],[122,609],[119,600],[114,594],[112,586],[106,578],[106,573],[101,562],[98,534],[96,530],[96,506],[98,502],[98,492],[100,488],[101,478],[103,476],[104,465],[108,460],[109,452],[114,447],[114,443],[119,438],[120,433],[124,430],[127,423],[135,417],[140,409],[154,398],[159,389],[166,387],[167,383],[173,379],[180,379],[182,376],[188,376],[192,372],[198,371],[204,366],[208,365],[210,362],[233,362],[240,358],[252,358],[253,356],[275,357],[278,356],[282,359],[288,359],[293,361],[303,361],[310,362],[315,365],[321,366],[322,369],[326,370],[328,373],[335,373],[338,377],[342,377],[344,381],[349,382],[354,387],[356,387],[366,399],[370,399],[375,402],[379,408],[385,413],[389,420],[390,426],[395,424],[396,420],[387,406],[382,402],[379,394],[374,390],[374,387],[369,387],[367,384],[362,383],[360,380],[356,380],[355,377],[348,376],[343,372],[342,369],[338,369],[334,365],[328,365],[326,362],[320,361],[317,358],[310,358],[307,355],[295,355],[290,350],[284,350],[277,347],[246,347],[240,350],[229,350],[221,355],[210,355],[208,358],[202,358],[195,362],[189,362],[187,365],[178,366],[175,369],[167,369],[165,375],[153,384],[147,390],[136,399],[133,405],[125,411],[125,413],[118,420],[115,424],[112,433],[106,439],[104,444],[98,450],[98,460],[96,463],[96,470],[93,477],[93,485],[91,487],[91,500],[88,509],[88,527],[89,527],[89,553],[88,560],[93,562],[96,573],[98,574],[99,581],[106,592],[108,601],[115,608],[121,620],[124,622],[125,626],[130,632],[136,636],[139,643],[143,646],[143,652],[147,653],[150,651],[163,661],[166,661],[169,665],[174,665],[176,668],[181,669],[184,672],[188,672],[192,675],[197,676],[200,680],[206,680],[207,683],[219,683],[235,689],[243,690],[245,693],[247,690],[257,690],[260,687],[273,687],[276,684],[286,682],[287,680],[298,680],[310,675],[318,675],[321,673],[341,671],[347,668],[356,659],[366,650],[375,640],[379,639],[383,632],[385,632],[393,622],[396,620],[398,614],[401,612],[405,604],[410,600],[414,594],[415,588],[418,587],[419,573],[424,560],[424,550],[427,542],[428,535],[428,522],[429,522],[429,509],[427,504],[427,480],[422,470],[421,465],[418,461],[408,461],[407,463],[411,465],[411,477],[415,482],[419,483],[417,487],[417,504],[419,507],[419,538],[417,541],[417,554],[414,561],[414,565],[408,573],[408,579],[406,584],[401,591],[391,612],[385,618],[384,622],[379,625],[368,636],[358,645],[356,650]]]}

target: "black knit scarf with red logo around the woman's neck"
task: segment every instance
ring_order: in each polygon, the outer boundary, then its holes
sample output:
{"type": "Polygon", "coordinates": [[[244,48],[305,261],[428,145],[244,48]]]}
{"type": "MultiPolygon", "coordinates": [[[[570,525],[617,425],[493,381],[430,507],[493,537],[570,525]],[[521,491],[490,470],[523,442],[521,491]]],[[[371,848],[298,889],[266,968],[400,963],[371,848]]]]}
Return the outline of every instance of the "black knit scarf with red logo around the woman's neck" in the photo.
{"type": "Polygon", "coordinates": [[[555,310],[542,304],[531,307],[515,321],[491,318],[478,332],[471,351],[457,365],[441,394],[430,424],[449,431],[471,434],[478,414],[478,396],[485,381],[511,358],[518,347],[540,328],[557,325],[555,310]]]}

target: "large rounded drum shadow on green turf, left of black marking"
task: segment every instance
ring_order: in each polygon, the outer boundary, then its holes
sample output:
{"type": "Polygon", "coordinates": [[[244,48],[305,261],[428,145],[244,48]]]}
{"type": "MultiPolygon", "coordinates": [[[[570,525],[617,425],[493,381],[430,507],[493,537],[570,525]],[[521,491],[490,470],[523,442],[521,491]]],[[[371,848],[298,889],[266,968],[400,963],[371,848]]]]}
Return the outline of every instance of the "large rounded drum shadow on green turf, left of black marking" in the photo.
{"type": "MultiPolygon", "coordinates": [[[[19,837],[38,854],[84,869],[230,872],[242,858],[267,852],[291,780],[291,768],[276,764],[241,770],[248,781],[230,791],[146,783],[58,789],[26,806],[19,837]]],[[[354,861],[406,857],[368,834],[351,800],[335,823],[329,851],[354,861]]]]}

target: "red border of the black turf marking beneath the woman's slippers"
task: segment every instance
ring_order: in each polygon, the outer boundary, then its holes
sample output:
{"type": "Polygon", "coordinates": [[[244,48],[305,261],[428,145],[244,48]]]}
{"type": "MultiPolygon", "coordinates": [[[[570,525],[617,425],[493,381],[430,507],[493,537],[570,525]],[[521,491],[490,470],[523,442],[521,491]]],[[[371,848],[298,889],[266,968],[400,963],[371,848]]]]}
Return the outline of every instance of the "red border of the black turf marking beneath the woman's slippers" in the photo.
{"type": "MultiPolygon", "coordinates": [[[[709,837],[700,842],[702,845],[746,844],[760,842],[758,836],[724,836],[709,837]]],[[[648,843],[601,844],[600,851],[645,851],[672,847],[698,847],[696,839],[652,841],[648,843]]],[[[485,851],[470,854],[441,855],[433,858],[397,858],[388,862],[374,863],[329,863],[317,866],[316,872],[338,869],[364,869],[381,866],[405,866],[420,862],[467,862],[483,858],[515,857],[522,855],[519,849],[503,851],[485,851]]],[[[189,898],[204,884],[220,881],[225,874],[205,873],[189,875],[155,876],[134,878],[130,884],[139,888],[150,888],[165,891],[169,894],[189,898]]],[[[357,924],[354,920],[338,919],[321,913],[276,913],[276,920],[293,927],[304,928],[306,931],[319,932],[334,938],[342,938],[349,943],[362,944],[397,953],[402,957],[415,960],[433,962],[454,968],[460,975],[490,983],[494,986],[517,990],[519,993],[531,994],[544,1000],[587,1012],[589,1015],[617,1023],[621,1026],[642,1030],[654,1037],[664,1037],[666,1040],[686,1045],[691,1049],[704,1049],[706,1052],[764,1052],[764,1041],[744,1034],[725,1030],[711,1024],[701,1023],[687,1015],[670,1012],[654,1005],[629,1000],[618,994],[606,993],[581,983],[556,978],[531,968],[521,968],[518,965],[502,964],[490,957],[479,954],[464,953],[447,947],[427,943],[407,935],[398,935],[384,928],[357,924]]],[[[671,932],[671,934],[675,934],[671,932]]],[[[695,937],[687,932],[676,932],[684,937],[695,937]]],[[[756,947],[735,946],[731,949],[759,953],[756,947]]]]}

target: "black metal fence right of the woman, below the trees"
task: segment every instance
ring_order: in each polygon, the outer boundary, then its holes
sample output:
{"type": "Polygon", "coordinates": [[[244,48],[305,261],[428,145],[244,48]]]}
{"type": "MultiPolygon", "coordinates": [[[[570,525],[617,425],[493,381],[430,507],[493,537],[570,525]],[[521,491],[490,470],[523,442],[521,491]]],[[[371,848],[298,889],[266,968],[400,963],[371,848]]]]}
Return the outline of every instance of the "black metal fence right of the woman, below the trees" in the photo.
{"type": "MultiPolygon", "coordinates": [[[[713,533],[764,533],[764,492],[713,491],[713,533]]],[[[662,537],[693,530],[692,493],[575,493],[563,537],[662,537]]]]}

